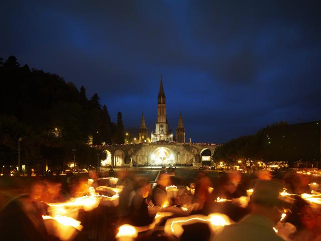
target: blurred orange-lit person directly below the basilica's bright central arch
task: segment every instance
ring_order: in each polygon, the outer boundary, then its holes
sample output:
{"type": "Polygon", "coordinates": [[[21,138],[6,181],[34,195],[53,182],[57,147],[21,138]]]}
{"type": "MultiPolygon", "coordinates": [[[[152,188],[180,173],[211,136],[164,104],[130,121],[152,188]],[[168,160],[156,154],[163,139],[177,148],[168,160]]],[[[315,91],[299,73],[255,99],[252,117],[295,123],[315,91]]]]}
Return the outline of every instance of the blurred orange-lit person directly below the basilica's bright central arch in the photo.
{"type": "Polygon", "coordinates": [[[157,179],[157,185],[152,189],[152,202],[156,206],[170,205],[166,187],[170,184],[170,177],[165,171],[161,171],[157,179]]]}

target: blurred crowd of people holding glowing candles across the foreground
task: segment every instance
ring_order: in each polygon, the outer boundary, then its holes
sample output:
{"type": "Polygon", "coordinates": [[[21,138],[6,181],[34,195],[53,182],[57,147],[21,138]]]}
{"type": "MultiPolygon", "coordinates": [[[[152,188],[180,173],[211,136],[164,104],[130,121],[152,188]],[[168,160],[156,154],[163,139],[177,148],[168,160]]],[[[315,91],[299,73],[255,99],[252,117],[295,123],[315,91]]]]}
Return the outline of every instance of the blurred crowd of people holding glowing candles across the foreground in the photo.
{"type": "MultiPolygon", "coordinates": [[[[137,239],[176,240],[152,226],[152,207],[189,207],[189,214],[224,213],[234,224],[227,225],[220,233],[209,235],[206,225],[186,225],[181,240],[321,240],[320,209],[313,208],[300,195],[310,193],[310,176],[285,171],[272,178],[268,170],[260,169],[255,176],[242,175],[239,171],[221,172],[216,179],[206,172],[199,172],[193,183],[176,175],[175,168],[159,171],[152,183],[135,172],[115,172],[117,181],[113,186],[122,186],[116,207],[98,207],[92,212],[80,214],[84,230],[75,240],[112,240],[117,227],[130,224],[146,227],[137,239]],[[175,195],[169,195],[168,187],[175,187],[175,195]],[[285,189],[284,189],[285,188],[285,189]],[[249,194],[249,190],[253,192],[249,194]],[[288,200],[280,193],[292,194],[288,200]],[[284,216],[283,216],[284,215],[284,216]],[[280,235],[275,228],[282,220],[291,227],[291,232],[280,235]],[[194,231],[191,231],[194,230],[194,231]]],[[[88,194],[87,178],[67,178],[67,182],[38,180],[19,190],[22,195],[3,202],[0,210],[0,235],[4,240],[57,240],[48,235],[42,215],[46,215],[46,203],[59,203],[88,194]]],[[[89,173],[94,188],[106,183],[99,173],[89,173]]],[[[314,193],[317,193],[314,190],[314,193]]],[[[3,194],[3,193],[2,193],[3,194]]],[[[282,224],[282,225],[283,225],[282,224]]],[[[161,223],[159,226],[164,225],[161,223]]],[[[283,225],[284,226],[284,225],[283,225]]]]}

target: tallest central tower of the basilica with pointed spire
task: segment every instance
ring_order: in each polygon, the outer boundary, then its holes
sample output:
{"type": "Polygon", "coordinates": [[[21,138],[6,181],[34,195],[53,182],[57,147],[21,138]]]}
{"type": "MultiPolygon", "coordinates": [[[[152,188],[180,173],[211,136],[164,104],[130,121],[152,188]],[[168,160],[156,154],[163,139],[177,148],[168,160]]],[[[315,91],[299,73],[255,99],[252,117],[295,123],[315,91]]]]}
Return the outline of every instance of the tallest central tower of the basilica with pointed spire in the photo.
{"type": "Polygon", "coordinates": [[[161,75],[161,85],[157,96],[157,122],[155,124],[155,132],[151,136],[151,141],[159,140],[173,141],[173,134],[169,132],[169,124],[166,117],[166,97],[163,87],[163,78],[161,75]]]}

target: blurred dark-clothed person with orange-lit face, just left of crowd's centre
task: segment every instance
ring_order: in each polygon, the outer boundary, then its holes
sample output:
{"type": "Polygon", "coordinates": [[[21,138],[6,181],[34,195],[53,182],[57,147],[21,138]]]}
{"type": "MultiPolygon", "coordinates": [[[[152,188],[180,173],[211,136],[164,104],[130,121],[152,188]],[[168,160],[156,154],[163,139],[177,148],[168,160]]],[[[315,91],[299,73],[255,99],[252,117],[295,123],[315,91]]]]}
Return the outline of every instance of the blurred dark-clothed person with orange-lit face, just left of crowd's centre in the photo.
{"type": "Polygon", "coordinates": [[[147,197],[150,193],[149,182],[141,178],[137,183],[135,195],[131,202],[131,219],[132,224],[135,226],[144,226],[153,221],[153,217],[148,216],[148,200],[147,197]]]}

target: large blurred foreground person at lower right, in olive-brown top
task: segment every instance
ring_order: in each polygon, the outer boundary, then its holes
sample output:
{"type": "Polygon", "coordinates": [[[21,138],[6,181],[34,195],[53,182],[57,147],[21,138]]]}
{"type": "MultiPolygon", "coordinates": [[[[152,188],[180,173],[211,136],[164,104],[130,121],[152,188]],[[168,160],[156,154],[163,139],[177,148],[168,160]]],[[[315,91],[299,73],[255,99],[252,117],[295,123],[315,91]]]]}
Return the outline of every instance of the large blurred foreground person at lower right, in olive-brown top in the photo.
{"type": "Polygon", "coordinates": [[[214,241],[281,241],[273,227],[280,220],[286,205],[279,199],[282,187],[276,181],[260,180],[252,194],[252,210],[238,223],[227,225],[222,232],[214,236],[214,241]]]}

